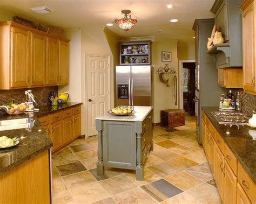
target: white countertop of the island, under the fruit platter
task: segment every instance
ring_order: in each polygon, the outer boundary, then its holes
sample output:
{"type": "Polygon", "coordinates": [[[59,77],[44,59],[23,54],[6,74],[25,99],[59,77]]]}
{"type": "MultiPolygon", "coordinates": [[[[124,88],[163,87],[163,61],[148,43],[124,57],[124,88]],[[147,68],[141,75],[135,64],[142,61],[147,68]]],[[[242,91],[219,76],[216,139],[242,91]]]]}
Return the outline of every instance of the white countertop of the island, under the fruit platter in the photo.
{"type": "MultiPolygon", "coordinates": [[[[130,106],[127,105],[127,107],[130,106]]],[[[132,116],[116,116],[106,112],[104,115],[96,117],[95,119],[99,119],[102,121],[142,122],[153,109],[153,107],[151,106],[132,106],[130,108],[136,111],[132,116]]]]}

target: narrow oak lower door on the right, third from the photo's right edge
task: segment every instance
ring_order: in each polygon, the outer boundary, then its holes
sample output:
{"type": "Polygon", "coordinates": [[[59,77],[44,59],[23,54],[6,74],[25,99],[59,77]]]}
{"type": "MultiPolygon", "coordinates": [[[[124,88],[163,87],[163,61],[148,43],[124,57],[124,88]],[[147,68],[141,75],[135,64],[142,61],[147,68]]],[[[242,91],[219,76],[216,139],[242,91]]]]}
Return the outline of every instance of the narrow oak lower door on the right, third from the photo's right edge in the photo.
{"type": "Polygon", "coordinates": [[[215,182],[218,186],[221,199],[224,193],[224,156],[219,147],[215,146],[215,182]]]}

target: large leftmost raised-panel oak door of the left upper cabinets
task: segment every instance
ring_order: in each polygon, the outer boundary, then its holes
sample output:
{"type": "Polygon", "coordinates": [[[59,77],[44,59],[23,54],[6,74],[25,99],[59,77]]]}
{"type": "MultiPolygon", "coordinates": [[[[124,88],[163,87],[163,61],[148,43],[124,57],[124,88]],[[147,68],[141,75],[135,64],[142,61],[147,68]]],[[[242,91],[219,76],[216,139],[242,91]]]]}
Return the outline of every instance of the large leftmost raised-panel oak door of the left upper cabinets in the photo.
{"type": "MultiPolygon", "coordinates": [[[[11,27],[11,87],[28,87],[30,82],[29,31],[11,27]]],[[[7,52],[7,51],[6,51],[7,52]]]]}

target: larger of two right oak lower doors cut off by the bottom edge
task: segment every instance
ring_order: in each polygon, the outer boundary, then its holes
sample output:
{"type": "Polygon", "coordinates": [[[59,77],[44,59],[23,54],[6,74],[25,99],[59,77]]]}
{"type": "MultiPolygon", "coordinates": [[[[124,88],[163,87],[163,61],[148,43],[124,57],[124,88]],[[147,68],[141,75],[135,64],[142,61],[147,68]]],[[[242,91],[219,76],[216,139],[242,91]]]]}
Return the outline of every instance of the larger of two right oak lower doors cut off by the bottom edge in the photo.
{"type": "Polygon", "coordinates": [[[237,203],[237,177],[225,160],[224,203],[237,203]]]}

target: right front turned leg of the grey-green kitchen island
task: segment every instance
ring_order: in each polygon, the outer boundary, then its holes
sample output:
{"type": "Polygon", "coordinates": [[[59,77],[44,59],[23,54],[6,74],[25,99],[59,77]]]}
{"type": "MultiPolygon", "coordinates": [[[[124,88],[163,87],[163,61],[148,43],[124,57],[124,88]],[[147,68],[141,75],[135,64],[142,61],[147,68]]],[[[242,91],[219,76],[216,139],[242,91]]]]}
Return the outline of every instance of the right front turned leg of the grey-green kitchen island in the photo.
{"type": "Polygon", "coordinates": [[[137,166],[136,180],[143,180],[143,165],[142,165],[142,133],[136,133],[137,136],[137,166]]]}

